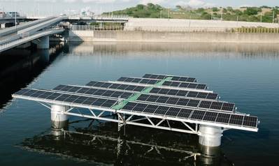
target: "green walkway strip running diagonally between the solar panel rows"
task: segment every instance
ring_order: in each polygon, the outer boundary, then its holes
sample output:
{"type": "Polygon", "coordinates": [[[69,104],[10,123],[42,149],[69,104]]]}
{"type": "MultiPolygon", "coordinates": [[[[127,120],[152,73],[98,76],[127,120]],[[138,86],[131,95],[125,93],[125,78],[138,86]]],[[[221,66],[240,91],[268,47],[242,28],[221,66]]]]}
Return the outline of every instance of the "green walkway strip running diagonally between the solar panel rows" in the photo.
{"type": "Polygon", "coordinates": [[[152,85],[152,86],[147,86],[145,89],[143,89],[142,91],[138,92],[138,93],[134,93],[134,95],[130,96],[129,98],[120,101],[119,103],[117,103],[117,105],[114,105],[113,107],[111,107],[111,109],[113,110],[121,110],[125,105],[127,105],[128,102],[130,101],[136,101],[139,96],[141,96],[141,94],[147,94],[150,93],[150,91],[157,87],[157,86],[162,86],[162,84],[164,84],[164,82],[171,80],[173,77],[166,77],[164,80],[157,82],[156,84],[152,85]]]}

